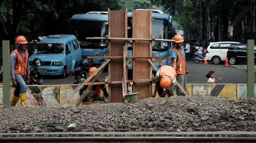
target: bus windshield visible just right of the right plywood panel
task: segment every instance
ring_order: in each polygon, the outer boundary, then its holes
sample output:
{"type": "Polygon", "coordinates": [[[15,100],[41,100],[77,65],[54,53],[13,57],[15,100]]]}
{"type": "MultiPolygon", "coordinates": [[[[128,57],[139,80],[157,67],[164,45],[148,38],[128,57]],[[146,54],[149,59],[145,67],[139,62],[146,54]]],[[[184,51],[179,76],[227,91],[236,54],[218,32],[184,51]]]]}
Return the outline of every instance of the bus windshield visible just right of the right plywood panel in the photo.
{"type": "MultiPolygon", "coordinates": [[[[152,21],[152,36],[156,39],[168,39],[168,21],[155,19],[152,21]]],[[[152,41],[152,50],[165,51],[168,42],[152,41]]]]}

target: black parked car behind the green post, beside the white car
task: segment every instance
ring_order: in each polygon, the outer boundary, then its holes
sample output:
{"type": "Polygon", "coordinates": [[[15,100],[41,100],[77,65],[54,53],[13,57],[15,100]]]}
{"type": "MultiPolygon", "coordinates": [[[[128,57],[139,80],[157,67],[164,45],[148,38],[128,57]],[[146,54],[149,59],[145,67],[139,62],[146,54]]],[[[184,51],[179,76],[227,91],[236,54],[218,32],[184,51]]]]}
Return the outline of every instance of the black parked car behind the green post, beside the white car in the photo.
{"type": "MultiPolygon", "coordinates": [[[[234,44],[227,51],[229,64],[247,63],[247,44],[234,44]]],[[[254,46],[254,63],[256,62],[256,46],[254,46]]]]}

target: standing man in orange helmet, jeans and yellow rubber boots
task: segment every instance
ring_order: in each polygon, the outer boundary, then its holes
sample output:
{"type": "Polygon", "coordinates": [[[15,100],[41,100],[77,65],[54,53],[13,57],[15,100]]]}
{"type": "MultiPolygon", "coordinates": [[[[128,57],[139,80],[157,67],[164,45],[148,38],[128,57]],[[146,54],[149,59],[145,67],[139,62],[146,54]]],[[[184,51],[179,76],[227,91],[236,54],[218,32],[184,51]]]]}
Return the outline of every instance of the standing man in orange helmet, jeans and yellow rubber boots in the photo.
{"type": "Polygon", "coordinates": [[[10,74],[15,91],[11,98],[11,106],[15,106],[20,99],[20,105],[25,106],[26,83],[25,75],[27,75],[27,83],[30,81],[29,77],[29,54],[27,52],[27,39],[24,36],[18,36],[15,40],[16,49],[10,55],[10,74]]]}

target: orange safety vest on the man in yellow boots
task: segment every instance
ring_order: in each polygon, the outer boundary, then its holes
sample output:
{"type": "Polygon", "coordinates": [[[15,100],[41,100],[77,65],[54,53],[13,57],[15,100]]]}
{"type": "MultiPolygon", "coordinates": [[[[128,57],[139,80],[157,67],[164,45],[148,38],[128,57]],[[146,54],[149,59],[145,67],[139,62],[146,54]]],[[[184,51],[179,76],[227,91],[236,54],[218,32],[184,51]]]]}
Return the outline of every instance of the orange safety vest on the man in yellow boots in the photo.
{"type": "Polygon", "coordinates": [[[25,59],[23,59],[22,55],[20,54],[20,52],[17,49],[15,49],[13,52],[15,52],[17,55],[17,61],[16,61],[16,65],[14,68],[14,73],[26,75],[29,53],[27,52],[27,50],[25,50],[25,59]]]}

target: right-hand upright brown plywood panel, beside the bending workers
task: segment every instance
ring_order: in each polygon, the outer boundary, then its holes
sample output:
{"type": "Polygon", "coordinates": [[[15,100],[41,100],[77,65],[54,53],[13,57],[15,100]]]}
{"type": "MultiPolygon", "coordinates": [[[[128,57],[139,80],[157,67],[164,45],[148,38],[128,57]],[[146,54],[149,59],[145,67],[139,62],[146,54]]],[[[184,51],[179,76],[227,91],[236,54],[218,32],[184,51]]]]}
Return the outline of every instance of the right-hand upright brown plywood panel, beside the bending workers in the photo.
{"type": "MultiPolygon", "coordinates": [[[[133,38],[151,38],[151,10],[133,11],[133,38]]],[[[151,56],[151,41],[134,41],[133,56],[151,56]]],[[[133,79],[150,79],[151,65],[148,59],[133,60],[133,79]]],[[[151,97],[151,82],[133,84],[133,91],[138,91],[138,99],[151,97]]]]}

